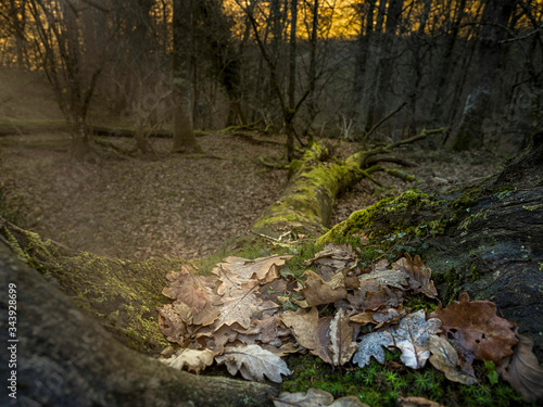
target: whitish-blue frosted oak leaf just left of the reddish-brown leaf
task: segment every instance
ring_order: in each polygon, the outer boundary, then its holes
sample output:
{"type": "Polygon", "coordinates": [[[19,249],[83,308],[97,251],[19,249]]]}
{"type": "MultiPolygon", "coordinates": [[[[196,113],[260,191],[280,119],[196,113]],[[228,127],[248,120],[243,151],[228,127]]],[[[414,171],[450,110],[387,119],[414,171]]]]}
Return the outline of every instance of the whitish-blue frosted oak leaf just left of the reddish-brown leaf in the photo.
{"type": "Polygon", "coordinates": [[[386,328],[392,335],[394,346],[402,351],[400,358],[405,366],[419,369],[430,357],[429,339],[441,329],[441,321],[437,318],[426,320],[424,309],[402,318],[396,328],[386,328]]]}

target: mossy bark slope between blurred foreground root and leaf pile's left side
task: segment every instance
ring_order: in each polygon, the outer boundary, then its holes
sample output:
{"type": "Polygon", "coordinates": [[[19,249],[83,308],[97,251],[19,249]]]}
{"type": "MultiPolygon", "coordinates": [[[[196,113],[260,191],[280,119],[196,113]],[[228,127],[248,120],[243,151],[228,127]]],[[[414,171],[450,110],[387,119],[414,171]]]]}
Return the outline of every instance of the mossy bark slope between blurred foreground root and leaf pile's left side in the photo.
{"type": "Polygon", "coordinates": [[[156,307],[167,298],[166,274],[178,270],[179,259],[142,263],[78,252],[0,217],[0,236],[17,257],[37,268],[87,314],[127,346],[155,353],[168,343],[156,323],[156,307]]]}

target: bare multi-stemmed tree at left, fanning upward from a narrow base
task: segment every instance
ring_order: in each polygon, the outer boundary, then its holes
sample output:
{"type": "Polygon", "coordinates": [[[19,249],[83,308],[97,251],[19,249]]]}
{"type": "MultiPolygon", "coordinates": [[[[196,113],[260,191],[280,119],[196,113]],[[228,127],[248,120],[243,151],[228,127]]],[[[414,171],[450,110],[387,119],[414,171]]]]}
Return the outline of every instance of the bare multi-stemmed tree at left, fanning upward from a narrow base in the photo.
{"type": "Polygon", "coordinates": [[[40,66],[73,127],[72,154],[84,160],[91,151],[87,116],[108,59],[115,22],[108,21],[106,2],[100,8],[78,0],[28,0],[27,3],[40,66]]]}

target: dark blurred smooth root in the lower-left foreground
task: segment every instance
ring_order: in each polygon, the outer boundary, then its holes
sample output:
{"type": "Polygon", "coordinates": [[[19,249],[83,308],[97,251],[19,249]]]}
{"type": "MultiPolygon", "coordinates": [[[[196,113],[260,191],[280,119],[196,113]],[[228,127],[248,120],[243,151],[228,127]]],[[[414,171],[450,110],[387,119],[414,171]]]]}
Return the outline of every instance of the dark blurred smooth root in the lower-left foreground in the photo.
{"type": "MultiPolygon", "coordinates": [[[[278,393],[267,384],[175,370],[123,346],[2,242],[0,287],[0,340],[16,349],[16,369],[2,363],[0,376],[14,376],[13,405],[256,407],[272,406],[270,397],[278,393]],[[16,290],[14,343],[8,342],[5,329],[9,284],[16,290]]],[[[7,383],[2,385],[11,385],[7,383]]],[[[2,405],[11,405],[7,394],[4,390],[2,405]]]]}

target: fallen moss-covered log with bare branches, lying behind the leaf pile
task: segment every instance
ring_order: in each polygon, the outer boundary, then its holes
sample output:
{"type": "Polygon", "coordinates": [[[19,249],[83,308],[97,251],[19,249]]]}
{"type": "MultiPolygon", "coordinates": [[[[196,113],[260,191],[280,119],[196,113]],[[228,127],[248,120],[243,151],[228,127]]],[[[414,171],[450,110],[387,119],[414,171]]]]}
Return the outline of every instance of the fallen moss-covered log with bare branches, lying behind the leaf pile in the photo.
{"type": "Polygon", "coordinates": [[[323,144],[314,142],[301,160],[292,161],[291,177],[280,198],[272,204],[255,221],[252,231],[257,234],[278,239],[290,232],[318,237],[329,226],[333,203],[337,196],[349,187],[366,177],[381,186],[371,177],[376,171],[387,170],[389,174],[407,181],[414,178],[400,170],[389,170],[375,164],[376,156],[396,147],[408,144],[426,138],[438,130],[422,130],[420,135],[389,145],[372,150],[359,151],[345,161],[329,156],[323,144]]]}

